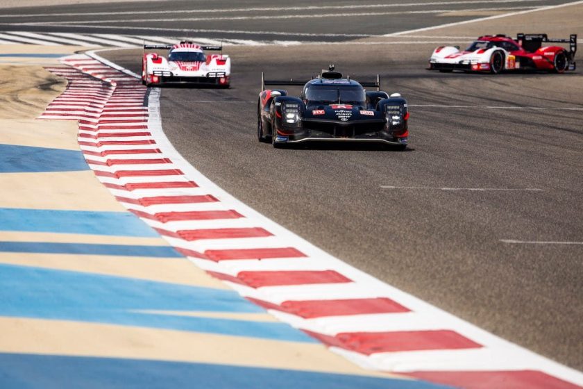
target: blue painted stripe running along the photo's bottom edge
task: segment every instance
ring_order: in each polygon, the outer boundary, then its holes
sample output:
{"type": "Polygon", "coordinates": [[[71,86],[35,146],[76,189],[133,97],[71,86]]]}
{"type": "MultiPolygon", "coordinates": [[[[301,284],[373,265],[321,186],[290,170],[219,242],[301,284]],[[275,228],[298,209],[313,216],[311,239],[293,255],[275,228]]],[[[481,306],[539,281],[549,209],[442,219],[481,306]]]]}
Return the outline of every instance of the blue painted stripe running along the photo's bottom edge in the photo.
{"type": "Polygon", "coordinates": [[[33,354],[0,354],[0,388],[453,389],[425,381],[352,374],[33,354]]]}

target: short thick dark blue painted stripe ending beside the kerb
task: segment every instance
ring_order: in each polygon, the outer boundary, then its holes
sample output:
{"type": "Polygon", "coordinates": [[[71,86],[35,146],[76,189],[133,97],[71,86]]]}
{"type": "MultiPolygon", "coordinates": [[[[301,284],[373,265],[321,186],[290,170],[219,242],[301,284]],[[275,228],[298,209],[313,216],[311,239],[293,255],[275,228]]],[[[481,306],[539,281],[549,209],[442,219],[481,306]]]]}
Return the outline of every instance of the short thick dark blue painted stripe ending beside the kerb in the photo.
{"type": "Polygon", "coordinates": [[[76,150],[0,144],[0,173],[76,172],[89,170],[76,150]]]}

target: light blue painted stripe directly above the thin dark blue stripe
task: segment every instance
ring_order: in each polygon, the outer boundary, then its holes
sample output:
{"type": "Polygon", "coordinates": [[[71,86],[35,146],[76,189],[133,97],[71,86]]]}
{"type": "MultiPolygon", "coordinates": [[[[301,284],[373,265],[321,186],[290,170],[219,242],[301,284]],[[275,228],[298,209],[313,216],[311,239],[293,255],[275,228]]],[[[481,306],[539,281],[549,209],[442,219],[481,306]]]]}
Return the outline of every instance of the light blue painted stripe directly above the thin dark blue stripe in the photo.
{"type": "Polygon", "coordinates": [[[129,212],[0,208],[0,231],[160,236],[129,212]]]}

